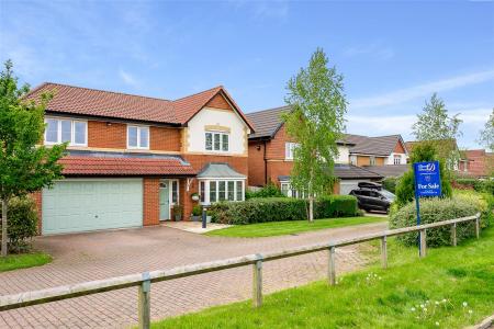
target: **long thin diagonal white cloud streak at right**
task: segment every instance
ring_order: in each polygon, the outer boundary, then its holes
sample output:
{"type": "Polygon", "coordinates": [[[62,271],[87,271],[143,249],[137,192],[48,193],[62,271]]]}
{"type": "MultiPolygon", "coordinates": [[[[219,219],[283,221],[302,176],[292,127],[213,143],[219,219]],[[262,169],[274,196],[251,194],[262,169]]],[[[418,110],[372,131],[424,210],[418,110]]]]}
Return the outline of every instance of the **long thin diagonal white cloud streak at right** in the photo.
{"type": "Polygon", "coordinates": [[[411,88],[404,88],[371,98],[350,100],[351,109],[369,109],[388,105],[398,105],[417,98],[425,98],[433,92],[452,90],[470,84],[494,80],[494,69],[457,76],[449,79],[426,82],[411,88]]]}

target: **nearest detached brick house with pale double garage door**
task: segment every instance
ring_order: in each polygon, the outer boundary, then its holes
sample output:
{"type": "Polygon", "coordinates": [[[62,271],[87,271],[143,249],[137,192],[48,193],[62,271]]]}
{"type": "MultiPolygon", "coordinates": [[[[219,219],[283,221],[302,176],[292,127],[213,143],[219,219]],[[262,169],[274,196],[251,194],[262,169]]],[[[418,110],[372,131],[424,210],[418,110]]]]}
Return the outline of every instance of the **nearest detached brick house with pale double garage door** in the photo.
{"type": "Polygon", "coordinates": [[[68,143],[65,179],[35,193],[40,232],[158,225],[182,206],[242,201],[252,125],[223,87],[164,100],[58,83],[44,145],[68,143]],[[194,201],[193,198],[199,198],[194,201]]]}

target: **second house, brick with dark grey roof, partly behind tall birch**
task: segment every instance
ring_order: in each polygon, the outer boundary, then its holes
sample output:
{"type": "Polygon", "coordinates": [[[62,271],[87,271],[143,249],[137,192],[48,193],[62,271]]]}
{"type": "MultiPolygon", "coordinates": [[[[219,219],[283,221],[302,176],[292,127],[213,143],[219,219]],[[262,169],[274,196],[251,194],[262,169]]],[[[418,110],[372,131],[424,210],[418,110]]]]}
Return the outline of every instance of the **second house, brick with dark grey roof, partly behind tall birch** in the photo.
{"type": "MultiPolygon", "coordinates": [[[[249,135],[249,175],[250,186],[263,186],[269,182],[277,184],[289,196],[301,196],[290,185],[293,168],[293,149],[296,143],[287,135],[281,115],[290,111],[289,106],[248,113],[246,116],[256,127],[249,135]]],[[[359,182],[379,181],[383,177],[349,162],[350,149],[355,144],[338,141],[339,157],[335,161],[335,175],[339,182],[334,188],[336,194],[348,194],[359,182]]]]}

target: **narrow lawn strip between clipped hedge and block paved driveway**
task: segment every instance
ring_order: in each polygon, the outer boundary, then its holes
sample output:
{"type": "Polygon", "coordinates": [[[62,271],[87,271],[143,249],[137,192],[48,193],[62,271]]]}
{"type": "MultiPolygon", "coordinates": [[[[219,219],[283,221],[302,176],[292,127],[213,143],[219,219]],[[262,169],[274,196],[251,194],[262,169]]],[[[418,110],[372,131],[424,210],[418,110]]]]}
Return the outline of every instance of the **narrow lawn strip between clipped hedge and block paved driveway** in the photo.
{"type": "Polygon", "coordinates": [[[346,218],[315,219],[313,223],[308,223],[307,220],[270,222],[270,223],[259,223],[248,225],[236,225],[223,229],[212,230],[206,232],[206,235],[222,236],[222,237],[258,238],[258,237],[292,235],[323,228],[336,228],[360,224],[372,224],[385,220],[388,220],[388,218],[385,217],[346,217],[346,218]]]}

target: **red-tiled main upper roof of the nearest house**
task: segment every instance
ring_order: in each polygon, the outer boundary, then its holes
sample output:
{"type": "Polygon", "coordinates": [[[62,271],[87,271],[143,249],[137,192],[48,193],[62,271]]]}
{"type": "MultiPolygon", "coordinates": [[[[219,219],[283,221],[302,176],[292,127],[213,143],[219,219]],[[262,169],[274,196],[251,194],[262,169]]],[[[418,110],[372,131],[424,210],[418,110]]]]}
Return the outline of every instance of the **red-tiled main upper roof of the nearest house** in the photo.
{"type": "Polygon", "coordinates": [[[177,125],[189,122],[213,97],[221,93],[231,101],[237,113],[254,131],[238,105],[222,86],[175,101],[169,101],[121,92],[45,82],[33,89],[26,95],[26,99],[37,100],[44,92],[52,92],[54,94],[53,100],[49,101],[47,105],[47,111],[50,112],[177,125]]]}

